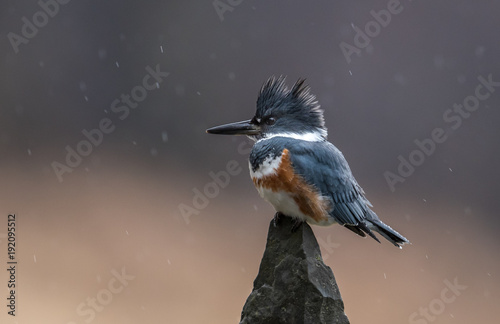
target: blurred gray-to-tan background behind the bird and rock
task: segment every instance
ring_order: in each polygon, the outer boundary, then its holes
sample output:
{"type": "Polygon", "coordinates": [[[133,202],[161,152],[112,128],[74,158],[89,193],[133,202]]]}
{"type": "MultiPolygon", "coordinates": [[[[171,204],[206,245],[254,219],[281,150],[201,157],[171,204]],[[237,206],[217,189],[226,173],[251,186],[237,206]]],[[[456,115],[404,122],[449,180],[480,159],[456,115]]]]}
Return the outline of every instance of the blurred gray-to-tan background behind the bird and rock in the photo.
{"type": "Polygon", "coordinates": [[[351,323],[494,322],[498,3],[64,2],[0,5],[0,268],[9,213],[18,260],[1,323],[238,323],[274,211],[251,143],[205,129],[251,118],[271,75],[307,78],[329,140],[412,242],[313,228],[351,323]],[[435,129],[446,140],[415,153],[435,129]]]}

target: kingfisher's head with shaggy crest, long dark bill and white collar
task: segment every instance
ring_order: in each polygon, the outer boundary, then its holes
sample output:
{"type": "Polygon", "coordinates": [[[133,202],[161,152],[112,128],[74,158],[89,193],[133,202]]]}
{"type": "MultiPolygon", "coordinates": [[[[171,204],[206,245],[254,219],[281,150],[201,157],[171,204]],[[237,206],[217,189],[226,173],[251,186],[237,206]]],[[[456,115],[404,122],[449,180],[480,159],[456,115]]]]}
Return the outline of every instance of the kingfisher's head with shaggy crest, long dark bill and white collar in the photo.
{"type": "Polygon", "coordinates": [[[299,79],[288,89],[283,76],[269,78],[260,89],[252,119],[216,126],[207,133],[247,135],[254,140],[274,136],[326,139],[323,110],[304,81],[299,79]]]}

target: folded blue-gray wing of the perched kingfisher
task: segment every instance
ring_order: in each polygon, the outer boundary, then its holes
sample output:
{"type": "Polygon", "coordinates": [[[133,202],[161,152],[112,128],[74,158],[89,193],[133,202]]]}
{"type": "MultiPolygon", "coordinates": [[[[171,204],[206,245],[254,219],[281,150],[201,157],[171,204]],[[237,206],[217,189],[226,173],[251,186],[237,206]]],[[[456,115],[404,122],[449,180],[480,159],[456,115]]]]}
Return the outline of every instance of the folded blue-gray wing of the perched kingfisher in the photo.
{"type": "Polygon", "coordinates": [[[296,141],[287,145],[287,149],[295,172],[330,199],[333,206],[330,216],[337,223],[364,236],[360,230],[365,231],[364,219],[371,204],[342,153],[327,141],[296,141]]]}

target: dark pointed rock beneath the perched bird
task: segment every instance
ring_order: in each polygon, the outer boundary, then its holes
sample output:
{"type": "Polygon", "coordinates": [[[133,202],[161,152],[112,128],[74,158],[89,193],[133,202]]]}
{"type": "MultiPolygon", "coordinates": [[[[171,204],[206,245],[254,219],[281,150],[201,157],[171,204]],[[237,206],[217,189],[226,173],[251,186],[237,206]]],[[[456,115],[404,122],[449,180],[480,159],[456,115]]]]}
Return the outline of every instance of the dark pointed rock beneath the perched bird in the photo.
{"type": "Polygon", "coordinates": [[[311,227],[271,222],[254,288],[240,324],[348,324],[332,269],[323,263],[311,227]]]}

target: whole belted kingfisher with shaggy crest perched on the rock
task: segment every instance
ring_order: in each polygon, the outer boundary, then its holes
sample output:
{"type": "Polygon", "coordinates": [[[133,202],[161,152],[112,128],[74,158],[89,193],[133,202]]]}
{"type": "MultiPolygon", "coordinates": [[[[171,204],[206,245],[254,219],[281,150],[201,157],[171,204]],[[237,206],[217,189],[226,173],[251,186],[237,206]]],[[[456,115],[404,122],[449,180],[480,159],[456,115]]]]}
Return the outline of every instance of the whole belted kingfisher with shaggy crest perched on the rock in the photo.
{"type": "Polygon", "coordinates": [[[380,243],[372,231],[395,246],[409,241],[373,212],[342,153],[327,141],[323,110],[304,79],[291,89],[283,76],[262,86],[251,120],[207,129],[210,134],[247,135],[255,140],[250,176],[260,196],[280,215],[327,226],[338,223],[380,243]]]}

